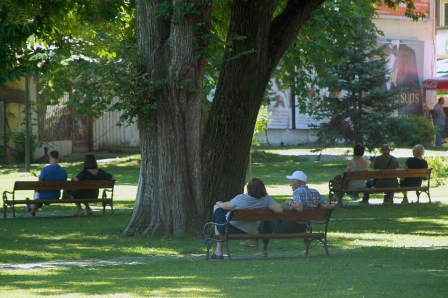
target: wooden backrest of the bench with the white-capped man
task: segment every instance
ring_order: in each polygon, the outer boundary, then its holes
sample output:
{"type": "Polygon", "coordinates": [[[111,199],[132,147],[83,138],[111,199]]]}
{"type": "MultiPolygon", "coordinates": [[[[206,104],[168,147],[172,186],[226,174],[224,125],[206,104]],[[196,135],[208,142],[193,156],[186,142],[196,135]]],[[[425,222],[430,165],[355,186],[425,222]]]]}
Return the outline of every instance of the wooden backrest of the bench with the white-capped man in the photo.
{"type": "Polygon", "coordinates": [[[229,219],[232,221],[326,221],[330,218],[332,210],[304,209],[302,212],[283,210],[282,213],[273,213],[269,209],[232,209],[229,219]]]}

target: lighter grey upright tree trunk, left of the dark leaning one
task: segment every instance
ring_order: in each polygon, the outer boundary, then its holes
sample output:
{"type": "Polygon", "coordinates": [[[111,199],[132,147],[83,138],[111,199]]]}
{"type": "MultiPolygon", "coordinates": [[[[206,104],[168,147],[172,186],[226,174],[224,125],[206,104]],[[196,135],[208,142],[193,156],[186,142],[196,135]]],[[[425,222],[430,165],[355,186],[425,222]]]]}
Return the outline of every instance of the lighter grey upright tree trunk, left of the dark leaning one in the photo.
{"type": "MultiPolygon", "coordinates": [[[[142,109],[139,186],[124,233],[176,236],[191,221],[203,220],[198,215],[203,214],[199,153],[204,59],[193,46],[198,44],[193,17],[198,16],[162,18],[155,2],[135,4],[139,61],[147,76],[137,106],[142,109]],[[153,110],[145,113],[149,106],[153,110]]],[[[209,8],[198,9],[207,21],[209,8]]]]}

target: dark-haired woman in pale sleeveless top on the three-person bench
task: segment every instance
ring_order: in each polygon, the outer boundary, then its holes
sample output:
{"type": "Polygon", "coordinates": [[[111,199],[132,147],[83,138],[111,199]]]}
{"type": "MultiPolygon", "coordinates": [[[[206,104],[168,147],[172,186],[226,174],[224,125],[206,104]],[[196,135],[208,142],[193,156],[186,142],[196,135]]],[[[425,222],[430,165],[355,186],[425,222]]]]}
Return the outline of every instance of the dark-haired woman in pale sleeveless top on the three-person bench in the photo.
{"type": "MultiPolygon", "coordinates": [[[[349,161],[349,164],[347,164],[345,172],[350,171],[366,171],[368,170],[368,161],[364,159],[364,145],[362,144],[356,144],[355,148],[353,149],[353,159],[349,161]]],[[[347,184],[347,188],[363,188],[365,186],[364,180],[350,180],[347,184]]],[[[347,193],[349,197],[352,198],[352,200],[357,201],[359,200],[359,194],[358,193],[347,193]]],[[[336,207],[342,207],[342,194],[338,194],[338,203],[336,204],[336,207]]]]}

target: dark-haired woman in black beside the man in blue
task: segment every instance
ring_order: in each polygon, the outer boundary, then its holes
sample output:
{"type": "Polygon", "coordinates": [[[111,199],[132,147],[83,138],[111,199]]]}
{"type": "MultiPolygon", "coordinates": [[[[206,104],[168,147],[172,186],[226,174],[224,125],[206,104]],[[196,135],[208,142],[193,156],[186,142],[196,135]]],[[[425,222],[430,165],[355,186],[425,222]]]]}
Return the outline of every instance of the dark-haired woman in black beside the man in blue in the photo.
{"type": "MultiPolygon", "coordinates": [[[[81,181],[81,180],[110,180],[113,179],[113,176],[106,171],[98,169],[98,164],[96,163],[95,156],[93,154],[86,154],[84,158],[84,169],[75,177],[72,178],[72,181],[81,181]]],[[[98,189],[78,189],[72,190],[72,197],[74,199],[83,199],[83,198],[98,198],[99,190],[98,189]]],[[[86,211],[88,214],[92,214],[89,203],[84,203],[86,206],[86,211]]],[[[78,216],[84,214],[83,208],[81,208],[81,204],[76,203],[77,210],[73,214],[73,216],[78,216]]]]}

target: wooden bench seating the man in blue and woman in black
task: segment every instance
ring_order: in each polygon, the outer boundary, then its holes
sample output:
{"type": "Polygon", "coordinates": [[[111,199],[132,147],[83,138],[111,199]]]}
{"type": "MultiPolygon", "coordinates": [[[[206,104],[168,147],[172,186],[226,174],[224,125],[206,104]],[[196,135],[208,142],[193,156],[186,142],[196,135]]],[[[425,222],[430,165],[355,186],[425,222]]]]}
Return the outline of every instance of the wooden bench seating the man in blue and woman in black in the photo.
{"type": "Polygon", "coordinates": [[[113,186],[115,180],[83,180],[83,181],[15,181],[12,191],[3,191],[3,218],[6,218],[6,209],[12,207],[12,215],[15,218],[15,205],[18,204],[74,204],[74,203],[102,203],[103,214],[106,205],[110,206],[113,214],[113,186]],[[75,190],[75,189],[103,189],[101,198],[83,198],[83,199],[42,199],[38,201],[16,200],[17,191],[34,190],[75,190]],[[110,193],[110,197],[107,197],[110,193]]]}

